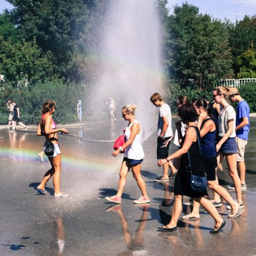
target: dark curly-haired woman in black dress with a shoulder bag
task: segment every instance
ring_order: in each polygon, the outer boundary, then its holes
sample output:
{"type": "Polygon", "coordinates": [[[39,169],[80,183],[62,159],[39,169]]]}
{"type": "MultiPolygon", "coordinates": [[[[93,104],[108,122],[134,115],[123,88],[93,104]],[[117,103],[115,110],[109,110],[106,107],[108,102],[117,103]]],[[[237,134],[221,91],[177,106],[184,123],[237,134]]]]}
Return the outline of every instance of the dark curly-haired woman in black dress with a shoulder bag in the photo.
{"type": "Polygon", "coordinates": [[[212,202],[205,198],[205,196],[207,195],[206,190],[198,192],[191,189],[190,172],[187,172],[187,152],[189,152],[190,154],[191,169],[194,170],[195,173],[201,173],[204,169],[204,163],[199,154],[200,151],[197,141],[197,134],[199,134],[196,123],[197,112],[195,111],[195,108],[192,104],[184,104],[179,107],[178,113],[182,122],[185,123],[188,128],[186,130],[186,134],[184,136],[184,140],[180,150],[177,150],[168,158],[158,161],[158,166],[161,166],[163,163],[166,163],[177,157],[181,157],[180,168],[177,172],[173,189],[173,193],[175,194],[175,202],[172,209],[172,219],[170,220],[168,225],[158,227],[158,229],[169,232],[177,230],[177,221],[179,220],[179,216],[182,213],[183,195],[187,195],[189,197],[192,197],[199,204],[201,204],[202,207],[204,207],[205,210],[209,213],[209,215],[214,218],[215,227],[210,231],[210,233],[216,234],[221,231],[221,229],[226,225],[226,222],[221,218],[212,202]]]}

